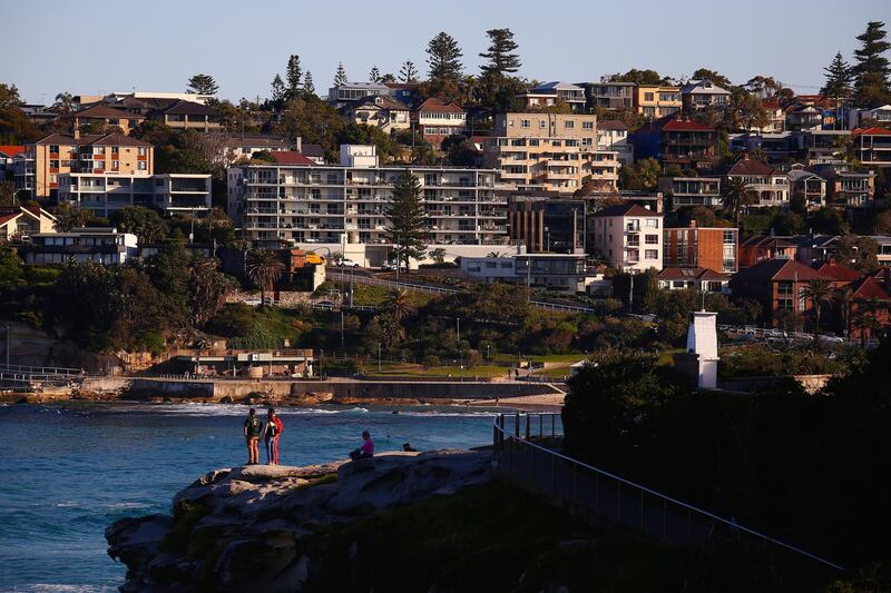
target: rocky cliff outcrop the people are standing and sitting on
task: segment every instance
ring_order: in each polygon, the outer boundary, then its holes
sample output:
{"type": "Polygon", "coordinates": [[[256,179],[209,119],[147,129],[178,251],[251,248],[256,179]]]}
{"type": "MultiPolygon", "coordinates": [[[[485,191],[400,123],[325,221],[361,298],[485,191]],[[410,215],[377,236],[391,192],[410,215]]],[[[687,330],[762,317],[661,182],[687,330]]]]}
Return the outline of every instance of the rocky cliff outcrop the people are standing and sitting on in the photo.
{"type": "Polygon", "coordinates": [[[108,554],[127,565],[125,592],[303,591],[332,527],[490,478],[489,454],[467,451],[217,470],[174,497],[172,516],[110,525],[108,554]]]}

